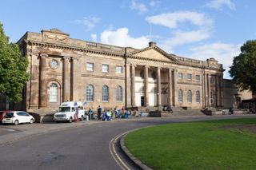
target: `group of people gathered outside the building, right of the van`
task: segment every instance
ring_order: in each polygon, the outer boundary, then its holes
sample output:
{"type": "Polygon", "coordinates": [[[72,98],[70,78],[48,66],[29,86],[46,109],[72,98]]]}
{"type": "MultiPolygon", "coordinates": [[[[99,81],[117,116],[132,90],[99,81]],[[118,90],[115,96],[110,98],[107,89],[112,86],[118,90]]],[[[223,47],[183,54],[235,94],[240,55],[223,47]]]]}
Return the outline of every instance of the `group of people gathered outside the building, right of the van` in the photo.
{"type": "Polygon", "coordinates": [[[114,108],[113,111],[102,110],[102,107],[98,105],[97,113],[94,113],[92,109],[89,109],[87,112],[88,119],[92,120],[93,117],[96,120],[102,121],[111,121],[113,118],[129,118],[131,116],[130,110],[125,110],[125,107],[122,106],[121,110],[118,110],[117,107],[114,108]]]}

